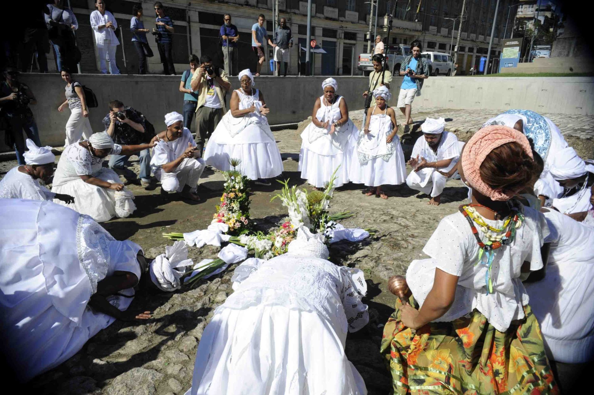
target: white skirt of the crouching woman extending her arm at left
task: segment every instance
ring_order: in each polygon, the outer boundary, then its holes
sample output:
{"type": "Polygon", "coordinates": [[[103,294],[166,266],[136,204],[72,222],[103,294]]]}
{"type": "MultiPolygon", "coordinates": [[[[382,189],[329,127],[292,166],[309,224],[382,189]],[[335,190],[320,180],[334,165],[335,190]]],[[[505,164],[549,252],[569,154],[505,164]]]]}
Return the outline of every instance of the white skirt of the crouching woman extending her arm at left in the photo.
{"type": "MultiPolygon", "coordinates": [[[[122,183],[119,176],[107,168],[99,170],[93,174],[93,177],[112,184],[122,183]]],[[[54,199],[53,202],[72,208],[78,213],[86,214],[96,222],[105,222],[113,217],[126,218],[136,210],[134,201],[132,201],[134,195],[127,188],[116,192],[113,189],[87,184],[81,178],[56,185],[52,188],[52,192],[74,197],[74,204],[66,204],[58,199],[54,199]]]]}

